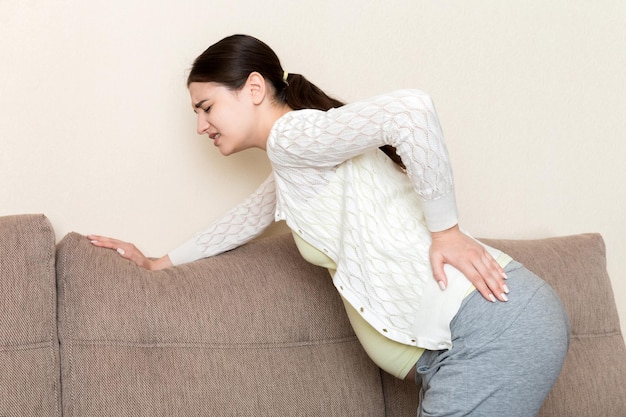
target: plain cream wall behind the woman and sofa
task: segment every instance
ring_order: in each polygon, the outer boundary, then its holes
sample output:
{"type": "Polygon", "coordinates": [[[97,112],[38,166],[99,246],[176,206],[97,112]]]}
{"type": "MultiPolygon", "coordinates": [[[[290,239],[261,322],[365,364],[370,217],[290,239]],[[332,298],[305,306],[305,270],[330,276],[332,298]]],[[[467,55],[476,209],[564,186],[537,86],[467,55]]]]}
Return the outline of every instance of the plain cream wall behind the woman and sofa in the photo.
{"type": "Polygon", "coordinates": [[[354,100],[428,91],[476,236],[600,232],[626,329],[626,3],[0,1],[0,215],[176,246],[269,172],[195,134],[193,58],[243,32],[354,100]]]}

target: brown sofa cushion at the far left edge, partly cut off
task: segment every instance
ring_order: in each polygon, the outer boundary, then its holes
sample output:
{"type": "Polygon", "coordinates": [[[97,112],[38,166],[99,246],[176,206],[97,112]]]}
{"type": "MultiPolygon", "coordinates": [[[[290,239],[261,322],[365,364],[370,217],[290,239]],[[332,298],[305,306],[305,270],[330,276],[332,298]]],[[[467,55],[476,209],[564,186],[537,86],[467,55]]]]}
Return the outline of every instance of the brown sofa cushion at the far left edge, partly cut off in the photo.
{"type": "Polygon", "coordinates": [[[54,232],[0,217],[0,416],[60,416],[54,232]]]}

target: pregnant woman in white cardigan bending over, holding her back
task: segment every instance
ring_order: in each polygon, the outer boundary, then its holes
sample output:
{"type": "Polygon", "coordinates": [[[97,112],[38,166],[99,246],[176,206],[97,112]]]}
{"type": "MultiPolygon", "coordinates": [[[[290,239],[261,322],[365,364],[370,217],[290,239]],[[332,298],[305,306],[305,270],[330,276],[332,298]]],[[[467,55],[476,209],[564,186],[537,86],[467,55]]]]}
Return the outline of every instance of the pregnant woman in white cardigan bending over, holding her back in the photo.
{"type": "Polygon", "coordinates": [[[223,155],[264,149],[272,175],[162,258],[102,236],[89,237],[94,245],[155,270],[233,249],[284,220],[304,258],[329,269],[374,362],[421,383],[419,415],[537,413],[567,351],[566,314],[541,279],[460,230],[426,94],[343,105],[245,35],[209,47],[187,85],[198,133],[223,155]]]}

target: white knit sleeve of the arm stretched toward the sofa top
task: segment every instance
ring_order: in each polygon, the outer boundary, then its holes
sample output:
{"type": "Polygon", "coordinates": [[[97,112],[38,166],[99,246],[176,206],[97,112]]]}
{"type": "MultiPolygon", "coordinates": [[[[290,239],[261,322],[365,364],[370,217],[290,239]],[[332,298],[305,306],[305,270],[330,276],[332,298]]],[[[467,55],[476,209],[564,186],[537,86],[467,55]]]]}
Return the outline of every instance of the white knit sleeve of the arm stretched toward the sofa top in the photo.
{"type": "Polygon", "coordinates": [[[259,236],[273,221],[276,208],[274,175],[241,204],[168,255],[174,265],[192,262],[235,249],[259,236]]]}

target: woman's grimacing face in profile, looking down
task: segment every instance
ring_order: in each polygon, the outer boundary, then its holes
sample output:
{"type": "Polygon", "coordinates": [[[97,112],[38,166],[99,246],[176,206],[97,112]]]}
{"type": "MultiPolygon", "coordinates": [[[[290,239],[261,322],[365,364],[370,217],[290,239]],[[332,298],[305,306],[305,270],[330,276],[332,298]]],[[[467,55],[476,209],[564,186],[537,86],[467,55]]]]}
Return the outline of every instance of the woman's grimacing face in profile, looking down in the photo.
{"type": "Polygon", "coordinates": [[[259,147],[257,114],[245,91],[213,82],[189,84],[191,105],[198,115],[198,134],[208,135],[222,155],[259,147]]]}

